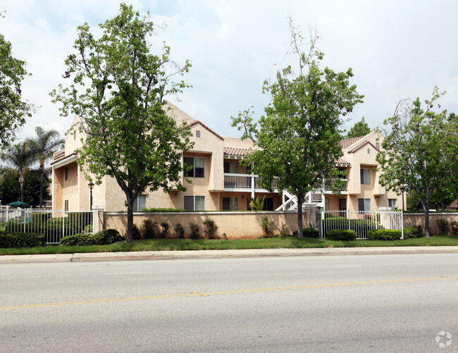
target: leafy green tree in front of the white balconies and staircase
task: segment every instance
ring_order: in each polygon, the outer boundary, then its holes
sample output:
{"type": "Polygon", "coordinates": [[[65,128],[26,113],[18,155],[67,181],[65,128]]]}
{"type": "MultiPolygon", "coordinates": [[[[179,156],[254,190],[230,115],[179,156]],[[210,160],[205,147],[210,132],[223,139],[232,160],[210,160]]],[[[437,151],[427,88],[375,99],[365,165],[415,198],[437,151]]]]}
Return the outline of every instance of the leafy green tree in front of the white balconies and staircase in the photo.
{"type": "MultiPolygon", "coordinates": [[[[307,192],[323,178],[338,177],[335,161],[342,156],[341,116],[352,111],[363,96],[349,84],[353,73],[335,73],[320,68],[323,53],[316,49],[316,35],[311,35],[308,53],[301,51],[302,36],[290,21],[292,54],[299,59],[299,72],[291,66],[278,71],[274,82],[264,82],[264,92],[271,94],[271,104],[253,122],[251,109],[233,118],[233,126],[244,129],[261,147],[246,156],[245,165],[254,163],[262,187],[272,190],[278,177],[278,190],[297,197],[297,234],[302,237],[302,204],[307,192]]],[[[335,182],[338,188],[340,182],[335,182]]]]}

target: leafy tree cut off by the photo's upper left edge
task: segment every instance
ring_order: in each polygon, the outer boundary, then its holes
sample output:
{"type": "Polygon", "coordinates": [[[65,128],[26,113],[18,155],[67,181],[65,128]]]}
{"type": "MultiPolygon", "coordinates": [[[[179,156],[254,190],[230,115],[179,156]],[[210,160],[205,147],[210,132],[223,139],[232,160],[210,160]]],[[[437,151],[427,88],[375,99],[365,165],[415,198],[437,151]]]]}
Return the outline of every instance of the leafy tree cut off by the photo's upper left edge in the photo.
{"type": "Polygon", "coordinates": [[[34,107],[20,97],[20,85],[27,75],[25,61],[13,57],[11,42],[0,33],[0,147],[13,141],[25,118],[32,116],[34,107]]]}

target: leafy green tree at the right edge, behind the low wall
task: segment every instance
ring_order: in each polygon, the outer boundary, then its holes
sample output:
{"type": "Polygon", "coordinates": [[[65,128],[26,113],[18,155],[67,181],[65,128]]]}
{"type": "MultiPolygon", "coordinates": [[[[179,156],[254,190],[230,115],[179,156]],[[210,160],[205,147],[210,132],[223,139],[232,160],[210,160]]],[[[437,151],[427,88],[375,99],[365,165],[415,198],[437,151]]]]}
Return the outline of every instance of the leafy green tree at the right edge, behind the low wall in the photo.
{"type": "MultiPolygon", "coordinates": [[[[444,93],[433,90],[425,107],[419,98],[404,99],[385,120],[391,130],[382,130],[383,150],[377,155],[382,174],[380,184],[396,192],[416,194],[425,212],[425,236],[429,237],[429,209],[438,192],[458,196],[458,118],[447,111],[435,112],[436,101],[444,93]]],[[[440,105],[438,105],[440,107],[440,105]]]]}

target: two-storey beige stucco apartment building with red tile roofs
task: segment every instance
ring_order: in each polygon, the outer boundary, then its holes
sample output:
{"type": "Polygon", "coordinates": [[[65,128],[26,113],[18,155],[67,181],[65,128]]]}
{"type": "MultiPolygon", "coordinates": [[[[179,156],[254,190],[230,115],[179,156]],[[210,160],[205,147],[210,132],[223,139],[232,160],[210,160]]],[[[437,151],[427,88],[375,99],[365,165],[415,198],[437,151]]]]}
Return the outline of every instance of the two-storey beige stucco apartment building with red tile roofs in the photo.
{"type": "MultiPolygon", "coordinates": [[[[250,140],[223,137],[199,120],[188,116],[173,104],[168,104],[168,113],[180,124],[190,126],[194,147],[183,154],[183,163],[192,166],[183,184],[185,192],[171,193],[157,190],[144,192],[137,197],[135,211],[144,208],[161,207],[187,209],[190,211],[249,210],[249,197],[264,197],[266,210],[295,209],[293,195],[279,194],[278,190],[268,192],[259,186],[258,176],[249,173],[249,168],[240,161],[256,147],[250,140]]],[[[72,126],[78,125],[75,117],[72,126]]],[[[338,168],[347,171],[345,186],[340,195],[332,193],[331,180],[316,185],[317,190],[307,195],[307,203],[326,209],[348,209],[349,211],[375,211],[380,206],[402,207],[402,197],[387,192],[378,184],[379,172],[376,154],[380,149],[376,132],[364,137],[343,140],[344,155],[336,161],[338,168]]],[[[105,211],[126,211],[125,194],[116,180],[109,176],[101,185],[89,190],[88,181],[78,167],[75,150],[82,147],[82,132],[72,128],[66,137],[65,148],[54,154],[53,168],[53,209],[66,211],[87,211],[93,208],[105,211]]]]}

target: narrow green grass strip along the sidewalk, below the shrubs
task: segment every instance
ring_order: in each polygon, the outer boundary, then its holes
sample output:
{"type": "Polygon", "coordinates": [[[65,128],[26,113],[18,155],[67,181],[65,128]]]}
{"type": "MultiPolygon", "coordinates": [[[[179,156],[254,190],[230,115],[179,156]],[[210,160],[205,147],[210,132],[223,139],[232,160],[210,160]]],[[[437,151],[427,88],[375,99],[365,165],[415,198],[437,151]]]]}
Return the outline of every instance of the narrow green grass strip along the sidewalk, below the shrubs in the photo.
{"type": "Polygon", "coordinates": [[[111,245],[92,245],[88,247],[32,247],[0,249],[0,255],[19,254],[73,254],[75,252],[142,252],[155,250],[223,250],[223,249],[280,249],[280,248],[323,248],[323,247],[433,247],[458,246],[458,237],[431,237],[390,242],[375,240],[355,240],[334,242],[331,240],[299,239],[278,237],[247,240],[191,240],[191,239],[151,239],[133,242],[118,242],[111,245]]]}

